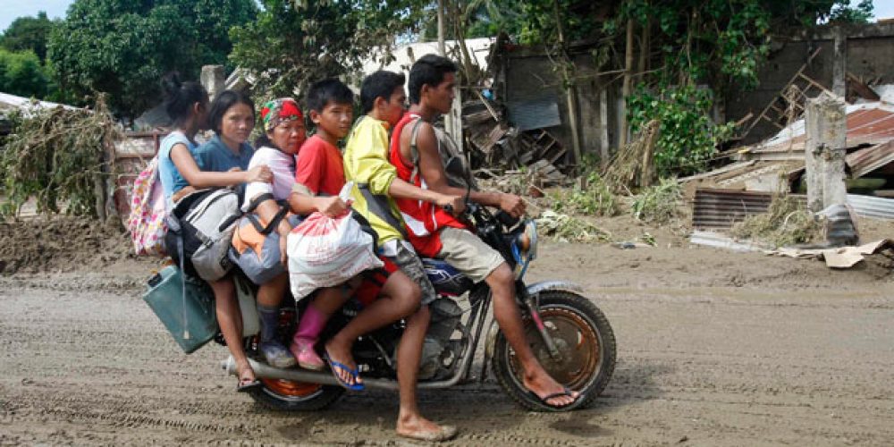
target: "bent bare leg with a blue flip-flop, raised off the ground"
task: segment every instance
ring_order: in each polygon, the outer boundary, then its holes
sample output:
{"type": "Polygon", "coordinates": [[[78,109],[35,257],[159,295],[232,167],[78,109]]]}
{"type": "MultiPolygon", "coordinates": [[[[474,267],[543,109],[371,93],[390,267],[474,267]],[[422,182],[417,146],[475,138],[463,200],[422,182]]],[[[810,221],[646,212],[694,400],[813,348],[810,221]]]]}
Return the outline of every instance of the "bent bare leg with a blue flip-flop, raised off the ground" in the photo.
{"type": "MultiPolygon", "coordinates": [[[[354,341],[360,335],[371,333],[375,329],[414,313],[419,307],[420,293],[419,286],[410,281],[409,276],[401,271],[394,272],[382,287],[381,296],[364,308],[358,316],[352,318],[348,325],[336,333],[329,342],[326,342],[326,353],[333,361],[356,369],[357,364],[350,353],[354,341]]],[[[347,384],[355,383],[354,378],[347,371],[339,369],[336,374],[347,384]]],[[[359,377],[356,383],[362,383],[359,377]]]]}

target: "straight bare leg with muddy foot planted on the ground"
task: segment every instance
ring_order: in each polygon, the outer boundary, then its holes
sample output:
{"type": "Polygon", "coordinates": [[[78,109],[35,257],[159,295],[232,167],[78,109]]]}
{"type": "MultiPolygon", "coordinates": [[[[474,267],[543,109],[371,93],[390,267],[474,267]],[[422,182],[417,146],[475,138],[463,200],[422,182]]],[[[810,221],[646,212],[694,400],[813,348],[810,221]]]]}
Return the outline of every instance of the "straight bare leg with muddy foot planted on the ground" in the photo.
{"type": "Polygon", "coordinates": [[[397,349],[397,382],[401,392],[401,410],[397,417],[397,433],[422,441],[443,441],[456,435],[456,428],[439,426],[422,417],[416,399],[419,358],[426,329],[431,319],[428,306],[419,308],[407,320],[407,328],[397,349]]]}

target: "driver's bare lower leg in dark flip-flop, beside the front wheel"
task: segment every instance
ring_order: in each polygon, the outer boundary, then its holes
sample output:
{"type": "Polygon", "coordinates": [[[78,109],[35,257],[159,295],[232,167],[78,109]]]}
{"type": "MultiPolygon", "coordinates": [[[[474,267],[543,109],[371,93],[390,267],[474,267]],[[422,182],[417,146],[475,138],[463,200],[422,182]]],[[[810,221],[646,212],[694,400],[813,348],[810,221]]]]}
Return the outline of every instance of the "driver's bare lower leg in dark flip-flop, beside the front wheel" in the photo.
{"type": "MultiPolygon", "coordinates": [[[[564,387],[546,373],[525,340],[524,326],[521,322],[519,306],[515,300],[515,282],[509,265],[502,264],[497,267],[485,278],[485,283],[493,292],[493,317],[500,325],[500,330],[506,337],[506,341],[519,356],[521,367],[525,370],[523,379],[525,387],[540,398],[562,392],[564,387]]],[[[577,400],[578,394],[578,392],[572,392],[570,396],[553,397],[546,401],[546,404],[564,407],[577,400]]]]}

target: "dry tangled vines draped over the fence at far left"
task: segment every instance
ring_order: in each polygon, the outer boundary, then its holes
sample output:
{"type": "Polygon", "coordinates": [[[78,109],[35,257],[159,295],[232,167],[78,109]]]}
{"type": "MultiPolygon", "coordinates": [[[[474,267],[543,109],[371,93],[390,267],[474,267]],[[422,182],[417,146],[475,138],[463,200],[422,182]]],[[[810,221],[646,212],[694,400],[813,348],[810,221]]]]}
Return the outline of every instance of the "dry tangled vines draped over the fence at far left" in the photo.
{"type": "Polygon", "coordinates": [[[35,198],[39,212],[97,216],[97,194],[114,173],[105,153],[119,131],[102,97],[94,110],[33,109],[15,112],[13,133],[0,151],[4,173],[0,215],[17,215],[35,198]]]}

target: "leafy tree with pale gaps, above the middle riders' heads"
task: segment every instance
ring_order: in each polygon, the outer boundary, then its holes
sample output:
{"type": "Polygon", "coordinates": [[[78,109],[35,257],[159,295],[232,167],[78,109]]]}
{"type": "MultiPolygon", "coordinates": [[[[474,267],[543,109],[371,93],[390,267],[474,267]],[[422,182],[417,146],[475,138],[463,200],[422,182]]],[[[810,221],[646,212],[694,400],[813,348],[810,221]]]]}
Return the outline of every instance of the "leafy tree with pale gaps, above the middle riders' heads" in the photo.
{"type": "Polygon", "coordinates": [[[233,63],[256,74],[254,89],[292,95],[314,80],[357,72],[370,55],[415,30],[411,0],[263,0],[257,21],[231,30],[233,63]]]}

